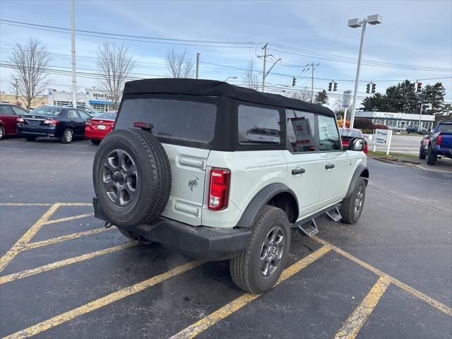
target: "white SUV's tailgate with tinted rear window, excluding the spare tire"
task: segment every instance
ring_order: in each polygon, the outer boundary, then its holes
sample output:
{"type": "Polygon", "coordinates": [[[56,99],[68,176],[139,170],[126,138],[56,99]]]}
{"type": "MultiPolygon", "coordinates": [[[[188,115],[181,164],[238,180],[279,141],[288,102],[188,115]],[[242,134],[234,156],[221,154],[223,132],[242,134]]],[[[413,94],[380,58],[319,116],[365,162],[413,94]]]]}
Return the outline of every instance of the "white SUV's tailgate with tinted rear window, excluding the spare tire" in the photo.
{"type": "Polygon", "coordinates": [[[165,148],[172,174],[169,202],[162,216],[189,225],[201,225],[208,186],[206,162],[213,140],[216,105],[162,98],[124,98],[115,129],[133,128],[135,122],[153,124],[153,134],[165,148]]]}

